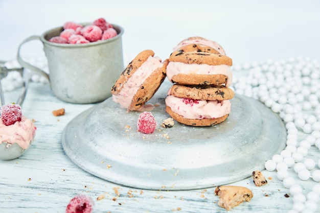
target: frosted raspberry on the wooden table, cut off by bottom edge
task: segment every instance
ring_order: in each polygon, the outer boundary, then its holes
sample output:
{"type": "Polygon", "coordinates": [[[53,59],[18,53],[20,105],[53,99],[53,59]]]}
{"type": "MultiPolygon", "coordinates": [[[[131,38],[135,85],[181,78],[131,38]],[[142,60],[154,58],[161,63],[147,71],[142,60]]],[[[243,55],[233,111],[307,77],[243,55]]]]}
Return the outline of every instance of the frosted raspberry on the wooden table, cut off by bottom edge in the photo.
{"type": "Polygon", "coordinates": [[[65,213],[91,213],[95,207],[93,199],[85,194],[79,194],[66,206],[65,213]]]}

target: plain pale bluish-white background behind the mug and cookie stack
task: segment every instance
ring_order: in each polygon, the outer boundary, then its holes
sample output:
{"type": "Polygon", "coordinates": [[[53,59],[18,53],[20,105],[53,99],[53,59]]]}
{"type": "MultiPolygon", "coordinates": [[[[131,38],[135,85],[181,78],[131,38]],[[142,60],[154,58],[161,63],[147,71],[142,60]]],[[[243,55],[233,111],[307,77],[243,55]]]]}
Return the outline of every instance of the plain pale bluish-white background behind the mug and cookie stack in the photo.
{"type": "MultiPolygon", "coordinates": [[[[0,0],[0,60],[15,58],[28,36],[99,17],[125,29],[125,60],[145,49],[165,59],[182,39],[202,36],[220,43],[234,64],[300,56],[320,61],[318,0],[0,0]]],[[[22,54],[44,55],[41,46],[30,42],[22,54]]]]}

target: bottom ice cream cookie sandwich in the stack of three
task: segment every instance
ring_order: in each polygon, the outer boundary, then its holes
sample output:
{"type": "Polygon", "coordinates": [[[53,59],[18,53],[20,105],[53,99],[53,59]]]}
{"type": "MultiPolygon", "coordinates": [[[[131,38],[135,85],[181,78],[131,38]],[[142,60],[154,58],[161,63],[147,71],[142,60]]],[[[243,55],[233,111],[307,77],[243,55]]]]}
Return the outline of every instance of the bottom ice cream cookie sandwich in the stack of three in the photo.
{"type": "Polygon", "coordinates": [[[182,124],[213,126],[227,119],[233,97],[233,90],[224,86],[175,84],[168,90],[166,111],[182,124]]]}

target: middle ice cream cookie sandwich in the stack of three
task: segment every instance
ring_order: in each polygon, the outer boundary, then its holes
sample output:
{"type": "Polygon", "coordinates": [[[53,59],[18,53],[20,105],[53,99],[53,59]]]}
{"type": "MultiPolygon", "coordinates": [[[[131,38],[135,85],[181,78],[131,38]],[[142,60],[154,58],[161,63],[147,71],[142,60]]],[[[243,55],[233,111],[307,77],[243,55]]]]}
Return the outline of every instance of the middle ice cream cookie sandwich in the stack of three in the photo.
{"type": "Polygon", "coordinates": [[[213,53],[173,52],[169,57],[167,77],[185,85],[222,85],[232,82],[232,59],[213,53]]]}

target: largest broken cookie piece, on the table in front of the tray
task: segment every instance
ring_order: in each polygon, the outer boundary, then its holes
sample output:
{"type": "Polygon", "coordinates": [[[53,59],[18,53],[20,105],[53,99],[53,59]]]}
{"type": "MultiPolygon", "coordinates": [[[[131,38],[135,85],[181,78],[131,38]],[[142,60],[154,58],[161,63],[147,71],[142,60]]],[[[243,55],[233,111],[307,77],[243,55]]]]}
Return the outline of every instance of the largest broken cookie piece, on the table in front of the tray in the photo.
{"type": "Polygon", "coordinates": [[[217,186],[215,195],[219,196],[218,205],[226,210],[239,205],[243,201],[249,202],[254,195],[243,186],[217,186]]]}

